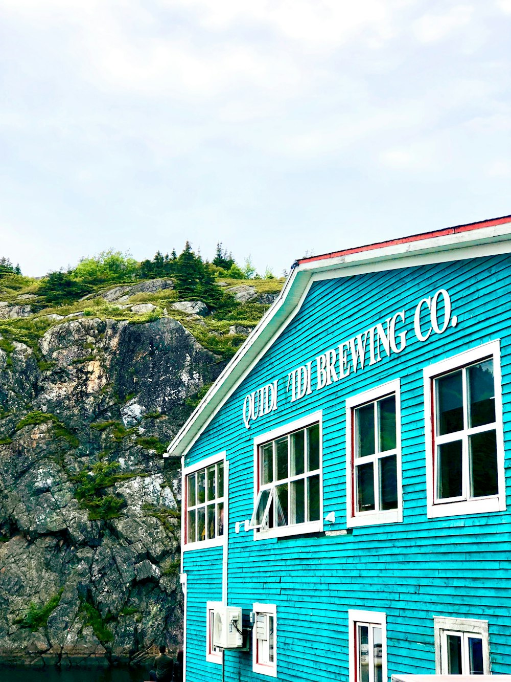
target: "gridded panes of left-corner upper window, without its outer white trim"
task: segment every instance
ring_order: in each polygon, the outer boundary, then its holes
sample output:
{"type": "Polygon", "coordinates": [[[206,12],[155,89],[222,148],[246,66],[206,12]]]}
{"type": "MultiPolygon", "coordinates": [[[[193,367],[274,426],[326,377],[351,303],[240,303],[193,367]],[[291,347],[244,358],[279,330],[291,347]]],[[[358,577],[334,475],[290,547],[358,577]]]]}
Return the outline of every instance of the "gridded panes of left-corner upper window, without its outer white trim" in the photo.
{"type": "Polygon", "coordinates": [[[223,541],[223,461],[187,473],[185,506],[185,545],[223,541]]]}

